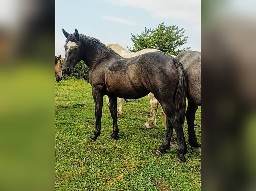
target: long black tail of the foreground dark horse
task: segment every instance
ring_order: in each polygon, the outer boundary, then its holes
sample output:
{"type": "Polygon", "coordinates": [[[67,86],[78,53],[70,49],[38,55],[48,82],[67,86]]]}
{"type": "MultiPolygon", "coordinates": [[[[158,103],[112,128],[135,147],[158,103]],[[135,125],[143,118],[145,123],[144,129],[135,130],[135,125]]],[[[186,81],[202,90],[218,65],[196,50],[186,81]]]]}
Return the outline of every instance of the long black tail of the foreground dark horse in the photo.
{"type": "MultiPolygon", "coordinates": [[[[175,59],[173,59],[173,62],[176,66],[176,70],[178,73],[178,85],[174,97],[174,106],[177,109],[178,113],[180,114],[183,124],[186,110],[187,76],[182,64],[175,59]]],[[[164,112],[162,113],[162,117],[163,125],[166,128],[166,116],[164,112]]]]}

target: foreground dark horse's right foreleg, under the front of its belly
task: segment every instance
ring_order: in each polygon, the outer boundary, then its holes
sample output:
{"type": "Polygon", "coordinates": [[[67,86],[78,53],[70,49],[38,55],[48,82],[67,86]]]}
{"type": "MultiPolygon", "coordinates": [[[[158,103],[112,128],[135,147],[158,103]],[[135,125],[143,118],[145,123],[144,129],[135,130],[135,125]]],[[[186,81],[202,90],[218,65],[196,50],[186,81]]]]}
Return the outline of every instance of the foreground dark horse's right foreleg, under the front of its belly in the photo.
{"type": "MultiPolygon", "coordinates": [[[[123,101],[123,100],[122,100],[123,101]]],[[[109,109],[110,109],[110,113],[111,113],[111,117],[113,119],[113,133],[111,135],[111,137],[113,139],[118,139],[118,126],[117,126],[117,97],[109,97],[109,109]]]]}

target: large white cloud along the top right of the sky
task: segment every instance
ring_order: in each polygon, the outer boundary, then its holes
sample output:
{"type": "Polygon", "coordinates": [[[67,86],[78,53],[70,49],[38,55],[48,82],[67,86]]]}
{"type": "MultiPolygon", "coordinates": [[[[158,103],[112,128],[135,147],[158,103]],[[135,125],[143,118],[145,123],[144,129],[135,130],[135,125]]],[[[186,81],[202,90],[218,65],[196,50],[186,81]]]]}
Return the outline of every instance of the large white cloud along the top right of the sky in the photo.
{"type": "Polygon", "coordinates": [[[121,7],[145,9],[152,18],[177,19],[201,25],[200,0],[104,0],[121,7]]]}

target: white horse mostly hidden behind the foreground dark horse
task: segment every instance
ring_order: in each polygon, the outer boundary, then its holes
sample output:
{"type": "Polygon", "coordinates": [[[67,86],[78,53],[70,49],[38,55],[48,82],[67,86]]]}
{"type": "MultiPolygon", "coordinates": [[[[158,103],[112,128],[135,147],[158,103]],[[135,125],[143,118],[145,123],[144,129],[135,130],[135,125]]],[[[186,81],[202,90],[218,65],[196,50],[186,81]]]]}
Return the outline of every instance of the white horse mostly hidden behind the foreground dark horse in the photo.
{"type": "MultiPolygon", "coordinates": [[[[131,58],[131,57],[135,57],[147,52],[157,52],[160,50],[157,49],[143,49],[141,51],[138,51],[136,53],[129,53],[127,50],[125,50],[122,46],[120,46],[119,44],[108,44],[108,47],[110,47],[111,49],[113,49],[115,52],[117,52],[120,56],[124,57],[124,58],[131,58]]],[[[175,58],[175,56],[171,55],[173,58],[175,58]]],[[[151,127],[154,127],[156,122],[155,122],[155,116],[156,116],[156,112],[158,109],[158,105],[159,102],[156,100],[155,96],[152,93],[148,94],[148,98],[150,100],[150,105],[151,105],[151,111],[150,111],[150,116],[148,121],[143,125],[143,128],[145,129],[150,129],[151,127]]],[[[107,100],[107,104],[109,106],[109,99],[108,96],[106,95],[106,100],[107,100]]],[[[118,110],[117,110],[117,116],[120,117],[123,114],[123,98],[119,98],[118,97],[118,110]]]]}

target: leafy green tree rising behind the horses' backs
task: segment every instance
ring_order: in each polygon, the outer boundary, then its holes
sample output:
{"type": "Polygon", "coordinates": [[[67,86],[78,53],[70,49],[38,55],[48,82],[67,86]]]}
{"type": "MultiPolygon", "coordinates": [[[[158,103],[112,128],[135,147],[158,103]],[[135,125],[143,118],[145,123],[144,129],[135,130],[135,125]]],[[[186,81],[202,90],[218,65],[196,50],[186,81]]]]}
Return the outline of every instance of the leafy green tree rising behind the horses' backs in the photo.
{"type": "Polygon", "coordinates": [[[179,49],[187,43],[188,37],[184,37],[184,29],[178,29],[176,25],[165,26],[159,24],[156,29],[147,29],[141,34],[131,34],[133,47],[127,47],[130,52],[138,52],[145,48],[158,49],[171,55],[178,55],[185,50],[191,50],[190,47],[179,49]]]}

